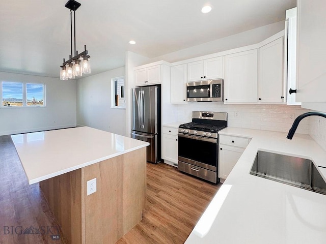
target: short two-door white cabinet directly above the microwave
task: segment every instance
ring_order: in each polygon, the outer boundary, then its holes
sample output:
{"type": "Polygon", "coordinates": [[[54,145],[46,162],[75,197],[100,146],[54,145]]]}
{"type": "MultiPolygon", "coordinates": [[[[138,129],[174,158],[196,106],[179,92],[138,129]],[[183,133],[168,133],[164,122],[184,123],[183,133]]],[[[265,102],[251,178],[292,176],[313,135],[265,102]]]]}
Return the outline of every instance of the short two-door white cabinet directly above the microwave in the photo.
{"type": "Polygon", "coordinates": [[[188,81],[223,78],[223,57],[213,57],[188,63],[188,81]]]}

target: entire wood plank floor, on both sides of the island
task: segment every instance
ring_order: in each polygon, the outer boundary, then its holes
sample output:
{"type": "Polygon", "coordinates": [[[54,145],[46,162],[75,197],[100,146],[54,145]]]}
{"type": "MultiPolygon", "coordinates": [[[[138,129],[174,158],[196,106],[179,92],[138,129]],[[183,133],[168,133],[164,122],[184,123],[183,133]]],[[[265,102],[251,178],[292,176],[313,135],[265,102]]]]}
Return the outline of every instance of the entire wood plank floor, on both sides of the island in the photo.
{"type": "MultiPolygon", "coordinates": [[[[117,243],[183,243],[220,186],[147,163],[143,219],[117,243]]],[[[0,244],[5,243],[67,243],[39,185],[28,185],[10,136],[0,136],[0,244]],[[32,234],[33,227],[43,233],[32,234]],[[26,229],[30,234],[19,234],[26,229]],[[52,240],[58,233],[61,239],[52,240]]]]}

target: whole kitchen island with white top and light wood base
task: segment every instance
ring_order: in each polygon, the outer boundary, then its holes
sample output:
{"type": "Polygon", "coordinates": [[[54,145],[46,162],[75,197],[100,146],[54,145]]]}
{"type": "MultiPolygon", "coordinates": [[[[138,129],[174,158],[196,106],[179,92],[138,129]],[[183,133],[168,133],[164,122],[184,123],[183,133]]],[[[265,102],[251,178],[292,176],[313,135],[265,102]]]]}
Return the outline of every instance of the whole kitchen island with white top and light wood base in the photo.
{"type": "Polygon", "coordinates": [[[147,142],[89,127],[13,135],[69,243],[115,243],[141,221],[147,142]],[[88,195],[87,181],[96,178],[88,195]]]}

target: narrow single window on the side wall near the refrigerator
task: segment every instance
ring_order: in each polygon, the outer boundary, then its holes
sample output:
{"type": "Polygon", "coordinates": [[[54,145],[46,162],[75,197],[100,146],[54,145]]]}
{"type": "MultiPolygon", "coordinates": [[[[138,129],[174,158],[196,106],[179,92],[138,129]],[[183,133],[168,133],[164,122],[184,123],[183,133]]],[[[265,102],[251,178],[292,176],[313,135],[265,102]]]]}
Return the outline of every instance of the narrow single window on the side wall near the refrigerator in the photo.
{"type": "Polygon", "coordinates": [[[125,108],[126,101],[124,96],[124,76],[111,79],[111,89],[112,89],[112,108],[125,108]]]}

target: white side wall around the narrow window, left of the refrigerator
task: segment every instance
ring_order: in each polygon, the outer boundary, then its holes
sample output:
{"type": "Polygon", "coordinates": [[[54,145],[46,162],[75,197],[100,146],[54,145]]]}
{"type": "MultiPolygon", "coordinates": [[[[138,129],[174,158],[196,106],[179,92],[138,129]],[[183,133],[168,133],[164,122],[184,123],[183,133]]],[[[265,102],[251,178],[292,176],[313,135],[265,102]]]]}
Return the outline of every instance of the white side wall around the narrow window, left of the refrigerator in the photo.
{"type": "Polygon", "coordinates": [[[77,80],[77,125],[125,135],[125,109],[111,108],[111,79],[125,75],[125,68],[77,80]]]}

